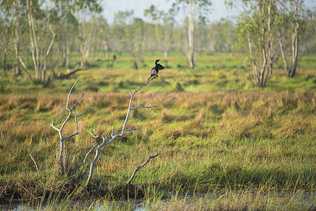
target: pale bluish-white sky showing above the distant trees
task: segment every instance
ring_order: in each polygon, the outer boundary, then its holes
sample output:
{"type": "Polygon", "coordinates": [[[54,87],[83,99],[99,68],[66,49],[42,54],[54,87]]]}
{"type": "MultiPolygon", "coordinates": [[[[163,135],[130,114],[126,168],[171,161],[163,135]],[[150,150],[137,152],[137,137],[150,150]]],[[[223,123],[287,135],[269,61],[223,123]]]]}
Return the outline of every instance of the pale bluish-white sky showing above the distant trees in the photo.
{"type": "MultiPolygon", "coordinates": [[[[168,11],[172,6],[173,1],[166,0],[106,0],[103,3],[103,17],[106,18],[108,23],[113,23],[114,14],[118,11],[134,11],[135,18],[141,18],[146,20],[144,17],[144,10],[149,8],[151,5],[156,6],[158,10],[168,11]]],[[[225,6],[224,0],[213,0],[211,11],[208,15],[208,20],[212,22],[217,22],[221,18],[232,18],[234,15],[239,15],[239,11],[236,8],[227,8],[225,6]]],[[[187,11],[184,8],[180,8],[179,14],[176,19],[178,23],[184,20],[187,16],[187,11]]]]}

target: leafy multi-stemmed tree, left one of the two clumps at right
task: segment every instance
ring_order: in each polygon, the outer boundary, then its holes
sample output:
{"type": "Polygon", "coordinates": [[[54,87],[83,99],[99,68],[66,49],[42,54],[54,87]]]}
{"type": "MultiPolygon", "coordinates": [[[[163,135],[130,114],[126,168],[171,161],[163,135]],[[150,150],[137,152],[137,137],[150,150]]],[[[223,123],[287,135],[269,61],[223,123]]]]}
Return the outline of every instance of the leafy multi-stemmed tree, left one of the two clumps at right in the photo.
{"type": "Polygon", "coordinates": [[[265,87],[279,55],[276,1],[242,0],[241,3],[245,11],[237,22],[237,43],[247,52],[252,84],[265,87]]]}

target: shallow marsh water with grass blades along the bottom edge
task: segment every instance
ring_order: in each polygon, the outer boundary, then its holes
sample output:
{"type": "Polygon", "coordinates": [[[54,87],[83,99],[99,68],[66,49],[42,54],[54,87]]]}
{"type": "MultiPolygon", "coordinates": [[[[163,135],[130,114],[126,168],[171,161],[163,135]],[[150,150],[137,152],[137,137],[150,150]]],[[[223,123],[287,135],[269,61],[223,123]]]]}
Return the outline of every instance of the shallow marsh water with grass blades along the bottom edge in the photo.
{"type": "MultiPolygon", "coordinates": [[[[258,204],[267,210],[310,210],[316,208],[316,193],[201,193],[173,195],[166,199],[123,200],[96,202],[83,200],[54,201],[49,203],[12,203],[1,205],[0,210],[213,210],[218,204],[231,210],[236,206],[257,210],[258,204]],[[203,209],[205,208],[205,209],[203,209]]],[[[215,209],[217,210],[217,209],[215,209]]],[[[243,209],[240,209],[243,210],[243,209]]]]}

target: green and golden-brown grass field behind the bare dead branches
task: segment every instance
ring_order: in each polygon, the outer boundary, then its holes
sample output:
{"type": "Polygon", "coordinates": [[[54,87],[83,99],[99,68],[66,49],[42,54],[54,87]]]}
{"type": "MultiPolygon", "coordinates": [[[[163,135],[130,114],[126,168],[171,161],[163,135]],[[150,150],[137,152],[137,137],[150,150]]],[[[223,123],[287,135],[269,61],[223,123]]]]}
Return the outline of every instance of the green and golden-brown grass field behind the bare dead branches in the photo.
{"type": "MultiPolygon", "coordinates": [[[[67,79],[69,84],[81,79],[72,96],[74,103],[84,91],[77,110],[95,101],[80,117],[80,135],[65,141],[68,170],[82,163],[91,148],[87,130],[96,127],[105,135],[122,127],[127,90],[144,84],[159,57],[163,55],[147,53],[144,65],[132,70],[132,58],[122,55],[112,68],[98,61],[67,79]]],[[[189,70],[185,56],[172,53],[169,67],[134,99],[137,105],[152,94],[150,102],[158,107],[132,112],[127,126],[141,129],[103,148],[88,188],[83,186],[89,163],[77,174],[56,174],[59,141],[49,124],[67,100],[65,81],[53,79],[43,86],[24,75],[2,74],[1,200],[41,205],[43,198],[106,198],[104,206],[127,210],[134,207],[113,202],[137,198],[152,210],[315,208],[316,57],[303,56],[291,79],[277,65],[263,89],[251,86],[241,59],[201,55],[196,69],[189,70]],[[40,176],[29,155],[37,146],[33,157],[40,176]],[[126,186],[135,168],[155,153],[158,157],[126,186]]],[[[66,134],[74,130],[74,121],[65,127],[66,134]]]]}

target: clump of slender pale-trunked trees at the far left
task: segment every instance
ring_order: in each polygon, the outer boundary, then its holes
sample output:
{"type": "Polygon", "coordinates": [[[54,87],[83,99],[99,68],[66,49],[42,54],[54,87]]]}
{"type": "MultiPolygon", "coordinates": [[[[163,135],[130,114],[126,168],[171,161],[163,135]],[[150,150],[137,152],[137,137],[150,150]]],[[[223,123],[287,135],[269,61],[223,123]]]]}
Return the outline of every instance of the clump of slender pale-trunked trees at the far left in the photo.
{"type": "Polygon", "coordinates": [[[1,58],[9,55],[4,59],[4,66],[7,67],[7,61],[10,61],[14,75],[20,75],[22,65],[32,82],[43,84],[49,82],[49,66],[53,73],[61,61],[59,52],[63,52],[62,66],[66,63],[68,70],[70,68],[69,43],[75,41],[75,29],[78,28],[74,24],[77,22],[74,14],[83,10],[101,11],[96,0],[1,0],[0,6],[1,13],[4,13],[0,18],[4,23],[1,25],[1,49],[4,50],[0,54],[1,58]],[[8,27],[11,27],[10,30],[7,30],[8,27]],[[56,43],[59,47],[54,51],[56,43]],[[29,55],[32,56],[32,64],[29,55]],[[30,66],[34,69],[34,75],[27,71],[30,66]]]}

